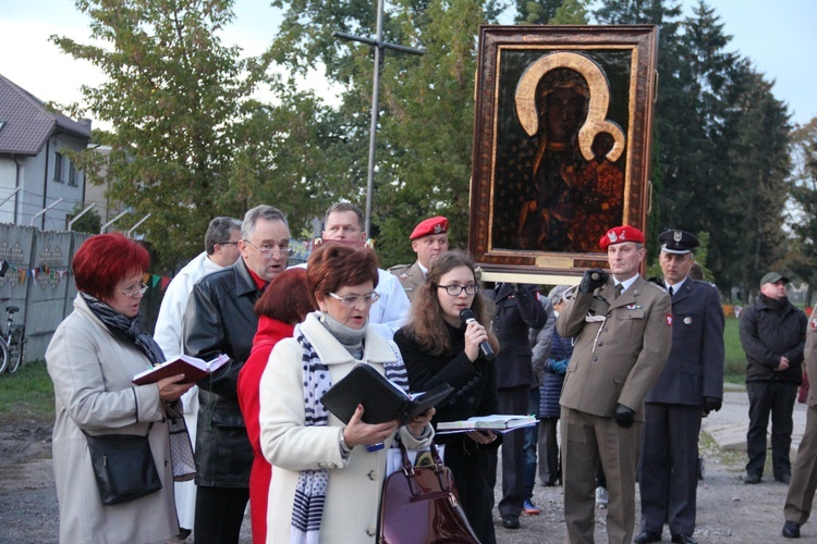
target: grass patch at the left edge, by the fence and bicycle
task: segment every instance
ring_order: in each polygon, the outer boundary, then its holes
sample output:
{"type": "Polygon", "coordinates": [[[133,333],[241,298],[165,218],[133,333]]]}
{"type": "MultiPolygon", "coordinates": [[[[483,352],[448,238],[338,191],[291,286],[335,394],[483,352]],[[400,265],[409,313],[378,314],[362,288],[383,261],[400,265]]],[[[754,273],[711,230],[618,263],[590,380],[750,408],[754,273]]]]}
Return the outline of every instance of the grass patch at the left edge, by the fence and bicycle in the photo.
{"type": "Polygon", "coordinates": [[[13,374],[0,374],[0,423],[53,422],[53,384],[45,361],[24,364],[13,374]]]}

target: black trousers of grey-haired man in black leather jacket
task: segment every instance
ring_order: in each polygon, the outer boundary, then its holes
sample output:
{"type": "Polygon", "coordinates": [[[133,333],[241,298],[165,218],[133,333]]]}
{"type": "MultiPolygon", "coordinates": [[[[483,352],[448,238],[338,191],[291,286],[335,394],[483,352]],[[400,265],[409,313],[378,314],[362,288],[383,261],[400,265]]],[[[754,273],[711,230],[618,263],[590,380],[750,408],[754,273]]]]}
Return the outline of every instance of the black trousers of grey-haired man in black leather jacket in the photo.
{"type": "Polygon", "coordinates": [[[196,544],[237,544],[249,500],[246,487],[196,489],[193,537],[196,544]]]}

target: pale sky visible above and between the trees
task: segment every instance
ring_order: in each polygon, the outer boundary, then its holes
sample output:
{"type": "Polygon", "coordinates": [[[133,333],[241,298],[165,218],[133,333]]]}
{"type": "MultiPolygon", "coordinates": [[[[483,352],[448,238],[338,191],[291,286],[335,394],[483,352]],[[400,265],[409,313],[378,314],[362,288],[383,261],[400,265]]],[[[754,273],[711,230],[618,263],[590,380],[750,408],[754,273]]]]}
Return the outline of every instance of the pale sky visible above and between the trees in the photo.
{"type": "MultiPolygon", "coordinates": [[[[373,0],[373,10],[376,2],[373,0]]],[[[684,0],[687,11],[697,2],[684,0]]],[[[792,121],[817,116],[817,58],[814,0],[712,0],[730,50],[749,58],[755,67],[776,82],[772,92],[789,106],[792,121]]],[[[0,74],[45,101],[69,103],[81,98],[82,84],[96,85],[101,74],[90,64],[61,54],[48,41],[52,34],[88,41],[87,20],[72,0],[3,0],[0,15],[0,74]]],[[[388,1],[386,2],[388,9],[388,1]]],[[[236,0],[236,18],[223,35],[247,54],[259,53],[278,28],[276,11],[267,0],[236,0]]],[[[313,77],[312,85],[326,84],[313,77]]],[[[660,91],[660,90],[659,90],[660,91]]]]}

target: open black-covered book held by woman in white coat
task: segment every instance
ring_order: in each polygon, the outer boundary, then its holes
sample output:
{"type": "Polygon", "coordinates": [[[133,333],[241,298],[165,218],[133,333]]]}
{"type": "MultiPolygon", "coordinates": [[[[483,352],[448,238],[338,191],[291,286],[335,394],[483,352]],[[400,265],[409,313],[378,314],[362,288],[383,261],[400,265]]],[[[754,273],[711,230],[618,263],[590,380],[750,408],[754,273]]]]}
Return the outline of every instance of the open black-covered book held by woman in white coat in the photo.
{"type": "Polygon", "coordinates": [[[352,419],[357,405],[363,405],[365,423],[376,424],[397,419],[405,424],[446,400],[453,391],[453,387],[443,383],[425,393],[406,394],[375,368],[357,364],[329,387],[320,401],[344,423],[352,419]]]}

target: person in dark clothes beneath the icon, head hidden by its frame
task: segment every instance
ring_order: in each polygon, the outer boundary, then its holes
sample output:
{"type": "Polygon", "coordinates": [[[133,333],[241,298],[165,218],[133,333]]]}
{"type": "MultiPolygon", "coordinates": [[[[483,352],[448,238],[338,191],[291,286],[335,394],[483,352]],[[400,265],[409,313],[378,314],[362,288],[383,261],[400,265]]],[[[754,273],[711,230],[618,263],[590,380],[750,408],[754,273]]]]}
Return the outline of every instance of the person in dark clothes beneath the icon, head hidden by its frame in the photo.
{"type": "MultiPolygon", "coordinates": [[[[545,326],[548,314],[537,287],[515,283],[497,284],[488,296],[497,305],[493,333],[499,338],[497,354],[497,393],[500,413],[526,415],[531,386],[536,382],[528,331],[545,326]]],[[[502,499],[499,514],[502,527],[520,528],[525,502],[524,430],[502,437],[502,499]]],[[[496,478],[496,477],[495,477],[496,478]]]]}

